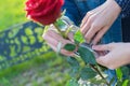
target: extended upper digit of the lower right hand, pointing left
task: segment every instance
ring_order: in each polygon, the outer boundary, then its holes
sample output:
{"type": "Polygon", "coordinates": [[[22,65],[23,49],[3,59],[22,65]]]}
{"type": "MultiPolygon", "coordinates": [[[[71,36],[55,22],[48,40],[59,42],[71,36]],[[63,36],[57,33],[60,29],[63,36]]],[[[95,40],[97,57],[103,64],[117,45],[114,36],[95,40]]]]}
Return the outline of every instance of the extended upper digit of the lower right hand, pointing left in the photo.
{"type": "Polygon", "coordinates": [[[110,51],[112,46],[109,44],[93,45],[92,49],[94,49],[94,51],[110,51]]]}

